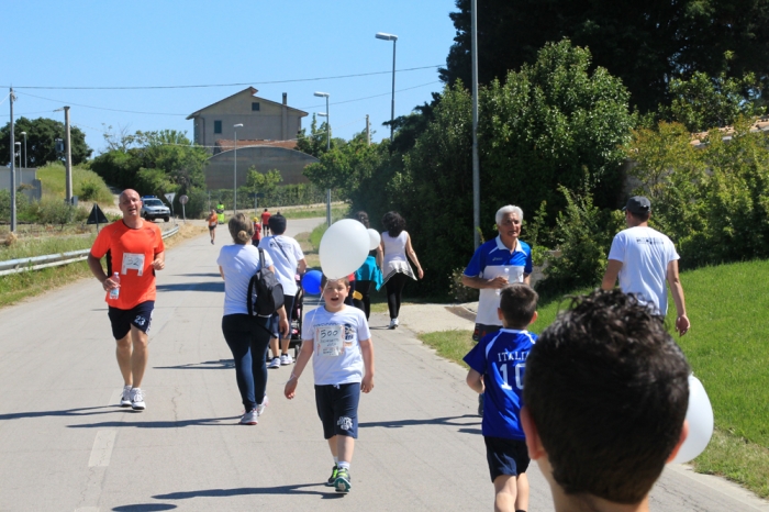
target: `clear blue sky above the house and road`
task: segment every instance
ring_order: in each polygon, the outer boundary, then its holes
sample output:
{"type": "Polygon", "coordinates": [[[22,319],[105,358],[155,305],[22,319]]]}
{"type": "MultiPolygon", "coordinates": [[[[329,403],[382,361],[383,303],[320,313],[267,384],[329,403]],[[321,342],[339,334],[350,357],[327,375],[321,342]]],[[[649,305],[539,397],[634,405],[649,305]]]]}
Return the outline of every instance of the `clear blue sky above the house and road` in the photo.
{"type": "MultiPolygon", "coordinates": [[[[454,0],[299,1],[35,1],[7,2],[0,31],[0,100],[13,86],[14,116],[63,121],[70,105],[74,125],[96,154],[104,149],[104,126],[192,135],[190,113],[246,87],[257,96],[310,113],[325,111],[331,94],[334,136],[349,138],[370,115],[379,141],[390,119],[391,75],[267,84],[392,69],[445,65],[455,30],[454,0]],[[137,87],[244,84],[243,86],[155,90],[25,89],[38,87],[137,87]],[[377,98],[365,99],[371,96],[377,98]],[[113,109],[131,112],[115,112],[113,109]],[[134,113],[137,112],[137,113],[134,113]],[[138,113],[142,112],[142,113],[138,113]]],[[[395,115],[439,91],[437,68],[395,75],[395,115]],[[408,90],[404,90],[408,89],[408,90]]],[[[10,119],[0,103],[0,124],[10,119]]]]}

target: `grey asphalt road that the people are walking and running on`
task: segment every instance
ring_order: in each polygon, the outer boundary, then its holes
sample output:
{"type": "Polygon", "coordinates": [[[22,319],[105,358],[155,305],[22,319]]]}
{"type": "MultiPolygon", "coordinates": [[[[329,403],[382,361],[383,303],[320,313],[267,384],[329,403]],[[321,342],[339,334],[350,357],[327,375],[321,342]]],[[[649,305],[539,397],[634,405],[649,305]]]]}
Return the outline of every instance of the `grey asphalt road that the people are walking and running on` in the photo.
{"type": "MultiPolygon", "coordinates": [[[[289,221],[289,234],[319,222],[289,221]]],[[[289,402],[289,368],[270,370],[267,412],[256,426],[237,425],[215,265],[230,237],[219,230],[215,246],[202,235],[170,249],[158,272],[145,412],[115,405],[122,381],[94,280],[0,311],[0,510],[491,508],[465,371],[410,331],[383,329],[381,314],[371,318],[377,386],[361,398],[350,494],[323,486],[332,463],[311,371],[289,402]]],[[[536,465],[530,478],[530,510],[551,511],[536,465]]],[[[767,510],[677,471],[666,471],[651,502],[657,511],[767,510]]]]}

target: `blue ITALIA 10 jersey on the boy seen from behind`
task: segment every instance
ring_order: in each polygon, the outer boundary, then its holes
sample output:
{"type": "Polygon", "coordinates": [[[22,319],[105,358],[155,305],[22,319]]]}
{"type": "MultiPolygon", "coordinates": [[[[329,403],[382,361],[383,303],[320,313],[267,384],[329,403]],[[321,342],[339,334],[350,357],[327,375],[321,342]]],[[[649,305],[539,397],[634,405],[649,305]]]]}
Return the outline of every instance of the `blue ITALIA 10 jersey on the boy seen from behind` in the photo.
{"type": "Polygon", "coordinates": [[[523,441],[521,426],[523,374],[537,335],[503,329],[483,336],[465,356],[465,363],[483,376],[483,422],[487,437],[523,441]]]}

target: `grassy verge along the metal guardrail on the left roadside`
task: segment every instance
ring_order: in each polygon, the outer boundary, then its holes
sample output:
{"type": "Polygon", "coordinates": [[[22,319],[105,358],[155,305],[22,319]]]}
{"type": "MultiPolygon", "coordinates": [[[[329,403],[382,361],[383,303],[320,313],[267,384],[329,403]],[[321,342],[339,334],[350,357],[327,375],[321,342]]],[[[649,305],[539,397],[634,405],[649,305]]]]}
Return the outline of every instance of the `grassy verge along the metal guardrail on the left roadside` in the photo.
{"type": "MultiPolygon", "coordinates": [[[[183,224],[183,225],[179,226],[179,233],[171,236],[170,238],[166,238],[164,241],[164,244],[166,246],[166,249],[169,249],[169,248],[185,242],[186,240],[199,236],[202,233],[205,233],[207,231],[208,231],[208,229],[205,226],[194,226],[191,224],[183,224]]],[[[85,246],[78,247],[78,248],[88,248],[92,245],[92,242],[93,242],[93,237],[82,238],[82,243],[85,244],[85,246]]],[[[43,242],[42,245],[33,246],[33,247],[36,247],[36,248],[49,247],[49,245],[46,245],[46,244],[54,244],[54,246],[56,246],[56,243],[60,243],[60,242],[53,240],[52,242],[43,242]]],[[[47,248],[45,251],[47,251],[47,248]]],[[[76,251],[76,249],[75,248],[67,248],[66,251],[76,251]]],[[[52,254],[52,253],[56,253],[56,252],[62,252],[62,249],[53,251],[51,253],[48,253],[48,252],[40,253],[38,252],[36,254],[32,254],[31,256],[52,254]]],[[[2,253],[0,253],[0,254],[2,254],[2,253]]],[[[8,257],[8,258],[0,256],[0,259],[12,259],[15,257],[26,257],[26,256],[13,256],[13,257],[8,257]]],[[[86,261],[78,261],[78,263],[70,264],[70,265],[63,265],[60,267],[44,268],[41,270],[32,270],[29,272],[20,272],[20,274],[12,274],[10,276],[2,276],[2,277],[0,277],[0,308],[15,304],[16,302],[19,302],[21,300],[29,299],[29,298],[35,297],[35,296],[40,296],[40,294],[42,294],[48,290],[53,290],[55,288],[70,285],[78,279],[82,279],[83,277],[92,277],[91,271],[88,269],[88,264],[86,261]]]]}

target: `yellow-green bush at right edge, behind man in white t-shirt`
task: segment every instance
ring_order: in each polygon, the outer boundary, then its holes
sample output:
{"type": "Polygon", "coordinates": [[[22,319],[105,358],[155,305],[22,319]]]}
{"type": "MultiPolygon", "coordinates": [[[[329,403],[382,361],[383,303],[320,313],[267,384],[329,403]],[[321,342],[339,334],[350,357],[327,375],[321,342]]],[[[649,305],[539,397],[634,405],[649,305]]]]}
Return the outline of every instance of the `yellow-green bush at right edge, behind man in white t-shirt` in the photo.
{"type": "Polygon", "coordinates": [[[632,175],[651,200],[650,225],[682,268],[769,257],[769,137],[743,119],[728,140],[714,130],[702,147],[690,142],[676,123],[634,132],[632,175]]]}

